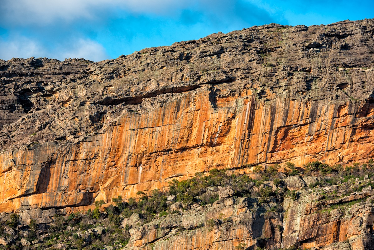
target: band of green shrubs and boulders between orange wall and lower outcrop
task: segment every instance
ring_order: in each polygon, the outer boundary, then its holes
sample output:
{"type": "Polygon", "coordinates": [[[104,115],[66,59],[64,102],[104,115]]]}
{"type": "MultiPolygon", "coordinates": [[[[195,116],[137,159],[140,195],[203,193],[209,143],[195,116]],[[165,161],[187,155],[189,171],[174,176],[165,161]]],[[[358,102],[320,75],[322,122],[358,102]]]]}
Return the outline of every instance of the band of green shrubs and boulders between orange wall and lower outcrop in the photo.
{"type": "MultiPolygon", "coordinates": [[[[251,166],[243,166],[245,169],[249,167],[251,166]]],[[[132,227],[151,222],[167,214],[188,210],[191,206],[211,205],[219,199],[220,187],[231,187],[233,196],[236,198],[254,198],[258,206],[273,202],[276,205],[270,209],[267,208],[269,211],[284,212],[282,204],[285,199],[295,202],[300,198],[298,190],[287,189],[285,182],[288,177],[297,175],[312,177],[315,181],[305,187],[312,191],[321,187],[347,183],[349,188],[345,193],[341,193],[338,189],[324,193],[326,199],[334,199],[338,196],[349,195],[351,192],[360,192],[363,188],[371,186],[373,170],[373,160],[365,164],[354,163],[347,167],[329,166],[318,161],[310,162],[303,168],[295,167],[289,162],[283,167],[278,164],[266,168],[258,165],[253,167],[248,174],[213,169],[207,174],[196,173],[195,177],[188,180],[174,179],[169,182],[169,188],[166,190],[154,189],[148,193],[138,192],[135,197],[127,201],[121,196],[113,198],[111,204],[105,204],[102,200],[95,201],[95,208],[92,210],[68,216],[56,215],[53,223],[48,225],[38,225],[35,220],[31,220],[28,225],[21,225],[19,215],[10,214],[6,223],[0,226],[0,237],[13,238],[7,249],[46,249],[49,247],[52,247],[51,249],[59,247],[62,249],[104,249],[106,246],[119,249],[128,244],[132,227]],[[361,180],[363,182],[360,182],[361,180]],[[133,217],[136,218],[136,224],[127,223],[133,217]],[[26,248],[22,246],[21,239],[29,241],[31,246],[26,248]]],[[[320,211],[348,208],[363,201],[365,199],[323,205],[320,211]]],[[[213,219],[210,219],[200,226],[214,228],[216,224],[213,219]]],[[[240,244],[236,249],[246,248],[240,244]]]]}

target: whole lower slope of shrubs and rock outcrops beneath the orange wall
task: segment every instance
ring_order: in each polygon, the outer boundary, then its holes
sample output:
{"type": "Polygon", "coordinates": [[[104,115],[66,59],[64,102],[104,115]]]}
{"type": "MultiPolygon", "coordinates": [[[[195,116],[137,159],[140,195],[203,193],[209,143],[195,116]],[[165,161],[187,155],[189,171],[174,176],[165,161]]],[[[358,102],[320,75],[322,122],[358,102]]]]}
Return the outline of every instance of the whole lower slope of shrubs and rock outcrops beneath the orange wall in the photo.
{"type": "Polygon", "coordinates": [[[374,165],[362,167],[287,177],[270,166],[261,179],[212,170],[84,213],[24,210],[21,227],[1,213],[0,249],[372,250],[374,165]]]}

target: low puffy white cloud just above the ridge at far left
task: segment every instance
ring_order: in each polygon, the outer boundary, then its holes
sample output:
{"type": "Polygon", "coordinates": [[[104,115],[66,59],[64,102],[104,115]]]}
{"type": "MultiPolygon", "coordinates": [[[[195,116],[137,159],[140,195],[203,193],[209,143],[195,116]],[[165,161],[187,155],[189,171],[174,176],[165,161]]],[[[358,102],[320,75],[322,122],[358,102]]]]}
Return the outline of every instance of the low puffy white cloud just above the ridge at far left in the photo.
{"type": "Polygon", "coordinates": [[[0,59],[9,60],[13,57],[49,57],[60,61],[65,58],[85,58],[92,61],[108,59],[104,47],[90,39],[74,39],[52,49],[46,49],[37,41],[22,36],[15,36],[7,41],[0,40],[0,59]]]}

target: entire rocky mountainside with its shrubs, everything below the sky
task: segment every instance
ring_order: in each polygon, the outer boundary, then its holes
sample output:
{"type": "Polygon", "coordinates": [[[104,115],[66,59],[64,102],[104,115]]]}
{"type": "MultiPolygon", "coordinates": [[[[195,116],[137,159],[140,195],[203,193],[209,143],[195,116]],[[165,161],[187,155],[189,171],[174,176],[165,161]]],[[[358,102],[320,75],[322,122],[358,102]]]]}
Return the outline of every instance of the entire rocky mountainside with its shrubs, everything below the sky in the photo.
{"type": "Polygon", "coordinates": [[[0,244],[374,249],[373,19],[0,60],[0,83],[0,244]]]}

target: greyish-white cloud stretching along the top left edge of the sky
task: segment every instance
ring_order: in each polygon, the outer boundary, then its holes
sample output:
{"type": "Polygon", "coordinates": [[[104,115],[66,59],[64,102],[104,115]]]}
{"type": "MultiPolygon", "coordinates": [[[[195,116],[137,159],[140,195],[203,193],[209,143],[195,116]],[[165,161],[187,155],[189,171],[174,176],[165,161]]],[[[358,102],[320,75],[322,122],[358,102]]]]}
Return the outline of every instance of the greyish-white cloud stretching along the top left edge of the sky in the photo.
{"type": "Polygon", "coordinates": [[[124,9],[137,13],[170,12],[186,6],[187,0],[2,0],[4,21],[16,24],[48,24],[55,20],[95,18],[106,9],[124,9]]]}

